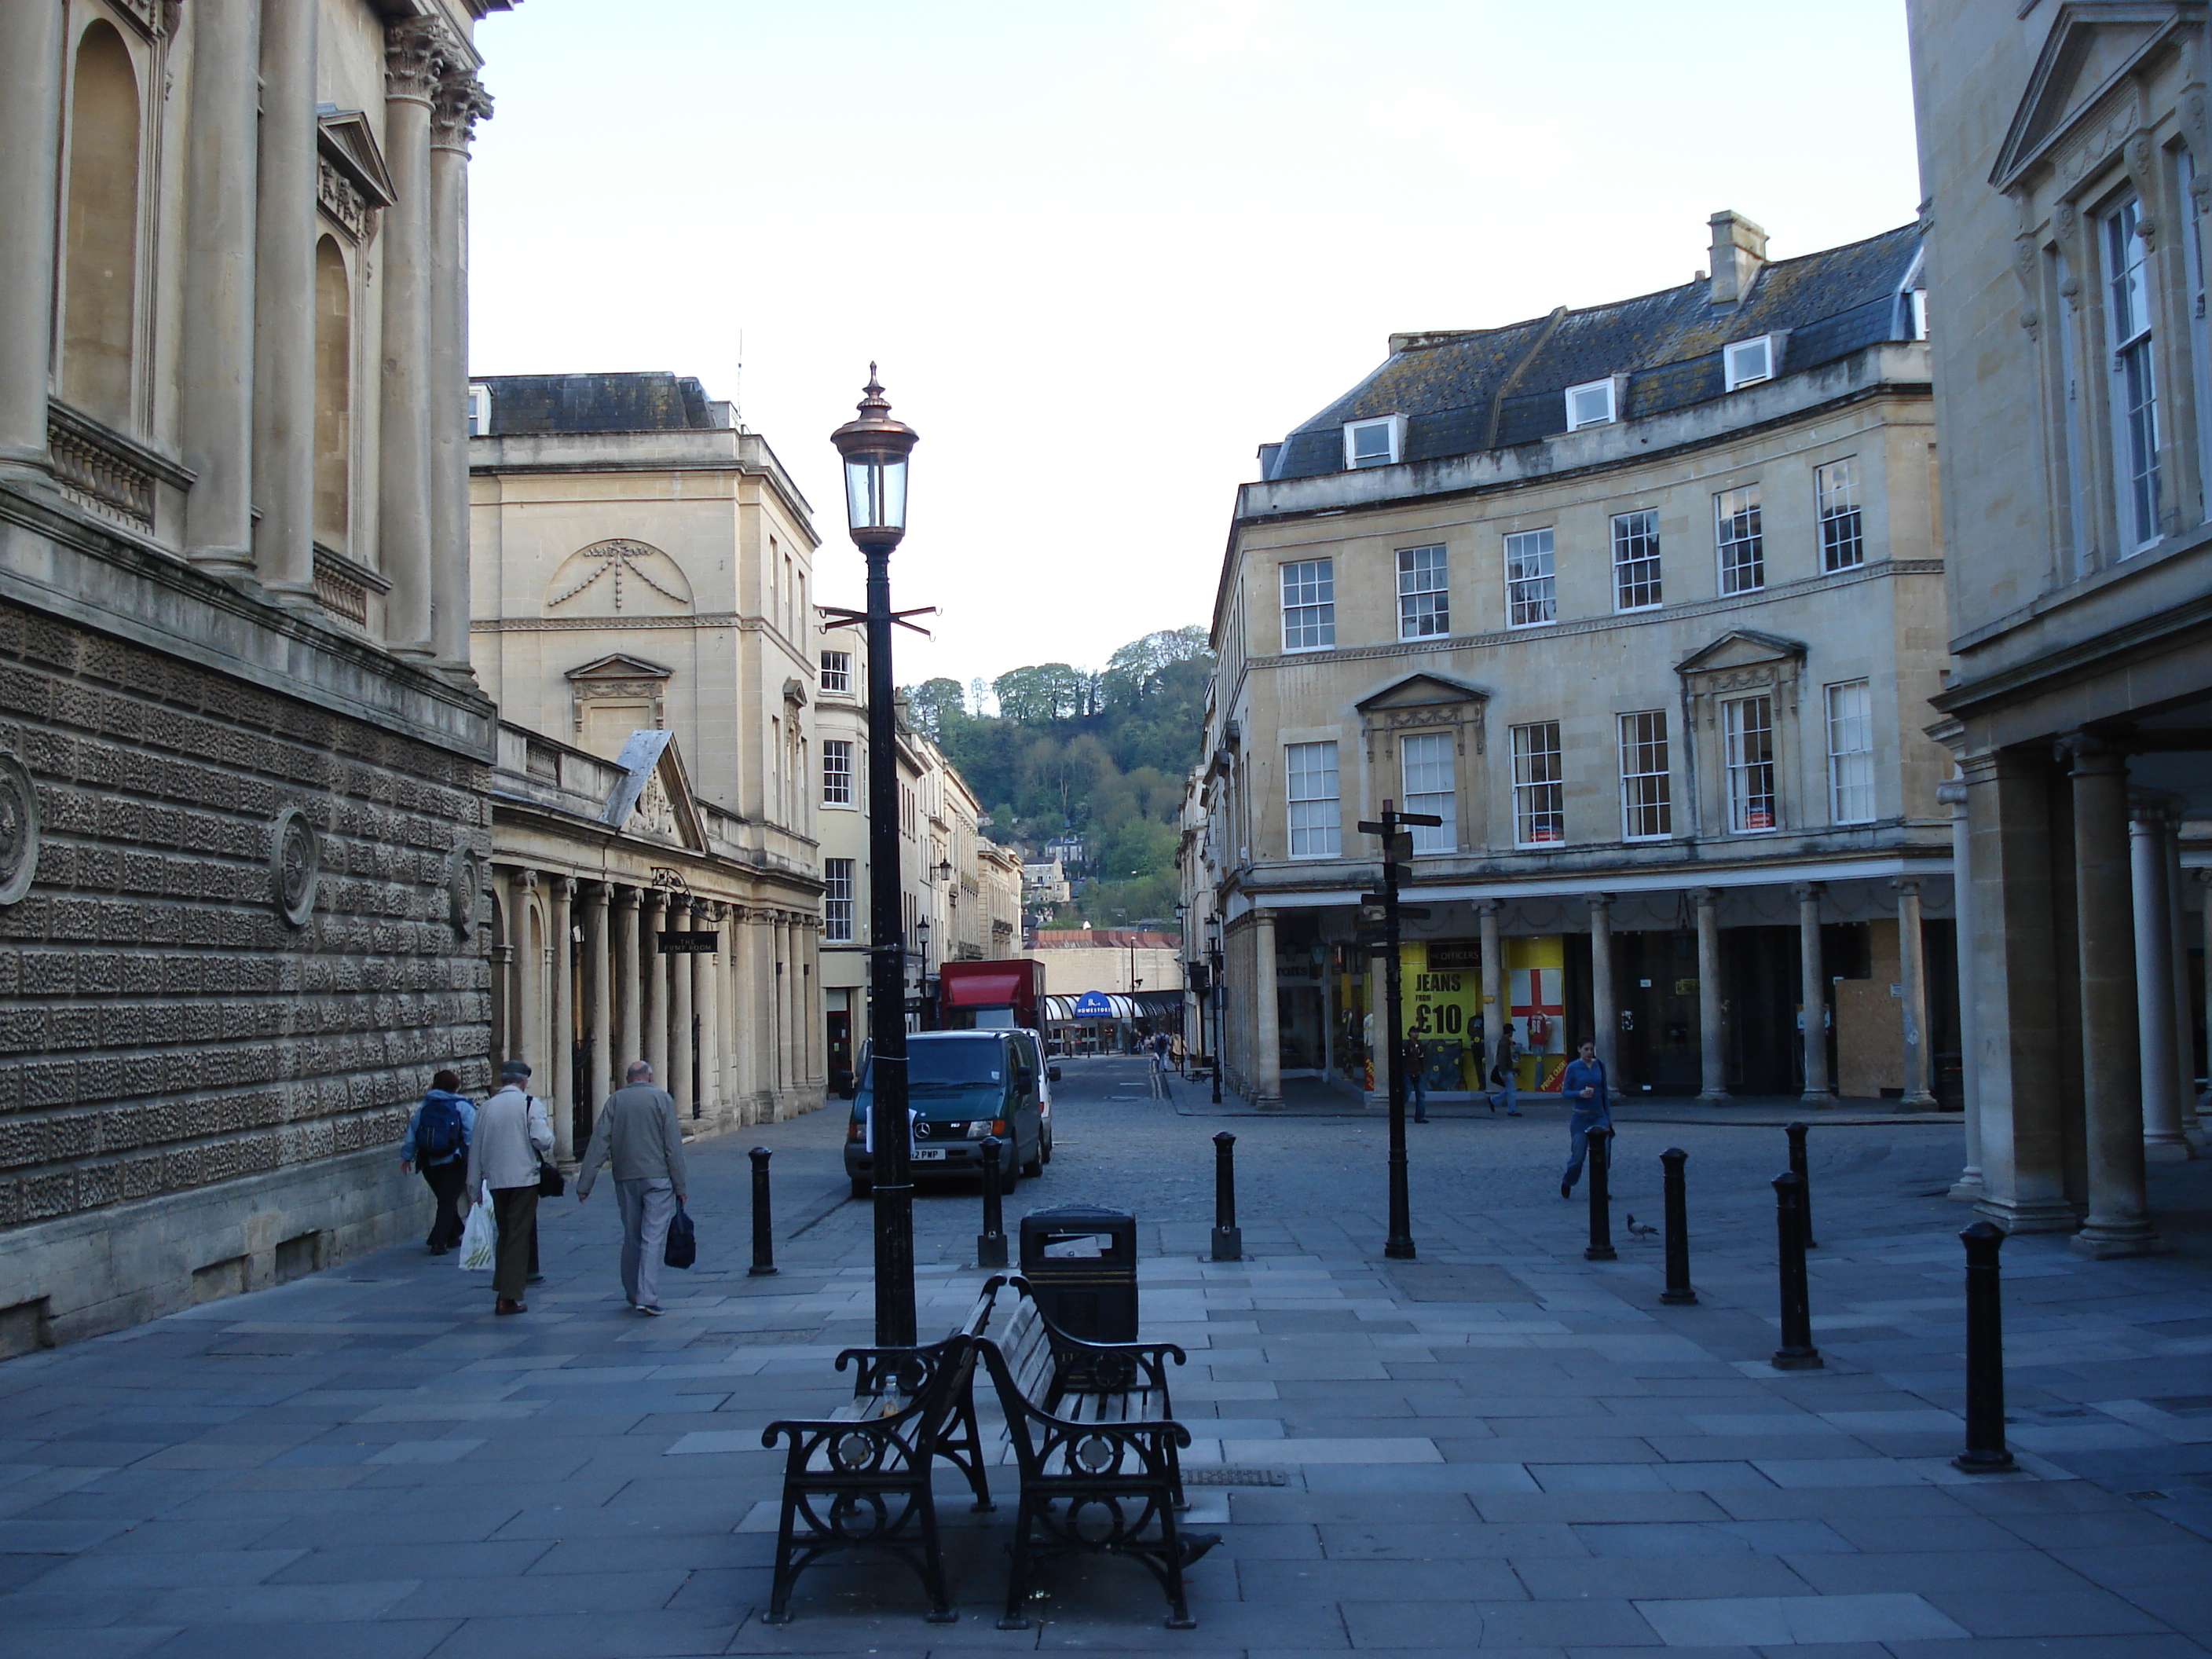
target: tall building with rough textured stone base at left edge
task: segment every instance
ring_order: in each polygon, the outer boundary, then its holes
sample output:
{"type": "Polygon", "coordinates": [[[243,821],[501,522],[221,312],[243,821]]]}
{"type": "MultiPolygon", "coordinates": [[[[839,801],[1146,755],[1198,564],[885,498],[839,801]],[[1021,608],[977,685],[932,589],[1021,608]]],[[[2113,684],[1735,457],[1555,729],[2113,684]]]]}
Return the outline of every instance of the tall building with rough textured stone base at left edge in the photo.
{"type": "Polygon", "coordinates": [[[0,1352],[418,1225],[487,1082],[471,31],[0,7],[0,1352]]]}

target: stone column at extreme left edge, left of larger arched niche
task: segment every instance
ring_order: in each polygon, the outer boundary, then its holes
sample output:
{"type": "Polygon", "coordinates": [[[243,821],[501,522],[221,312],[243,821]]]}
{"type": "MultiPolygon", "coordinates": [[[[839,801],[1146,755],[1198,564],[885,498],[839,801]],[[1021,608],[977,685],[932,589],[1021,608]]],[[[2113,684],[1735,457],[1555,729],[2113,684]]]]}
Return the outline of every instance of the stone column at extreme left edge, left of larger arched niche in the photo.
{"type": "Polygon", "coordinates": [[[62,7],[0,4],[0,471],[46,471],[62,7]]]}

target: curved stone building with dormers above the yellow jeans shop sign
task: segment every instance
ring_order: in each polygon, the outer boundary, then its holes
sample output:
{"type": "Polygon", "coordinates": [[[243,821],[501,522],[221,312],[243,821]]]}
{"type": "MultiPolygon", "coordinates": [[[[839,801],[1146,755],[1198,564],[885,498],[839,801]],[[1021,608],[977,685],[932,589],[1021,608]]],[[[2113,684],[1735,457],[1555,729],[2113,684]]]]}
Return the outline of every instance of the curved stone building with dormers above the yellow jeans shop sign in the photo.
{"type": "Polygon", "coordinates": [[[1595,1035],[1626,1091],[1955,1095],[1920,230],[1710,228],[1688,285],[1394,336],[1239,491],[1183,860],[1256,1099],[1383,1086],[1387,801],[1442,818],[1402,956],[1433,1093],[1511,1020],[1522,1088],[1595,1035]]]}

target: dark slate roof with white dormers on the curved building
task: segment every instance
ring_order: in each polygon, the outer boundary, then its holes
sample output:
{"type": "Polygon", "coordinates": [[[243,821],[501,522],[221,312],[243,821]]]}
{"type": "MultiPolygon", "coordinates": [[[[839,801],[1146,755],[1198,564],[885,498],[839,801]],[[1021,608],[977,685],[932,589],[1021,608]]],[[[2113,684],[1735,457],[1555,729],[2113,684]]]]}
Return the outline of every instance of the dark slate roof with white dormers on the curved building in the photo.
{"type": "Polygon", "coordinates": [[[1790,332],[1781,374],[1798,374],[1878,341],[1911,338],[1900,288],[1920,257],[1920,226],[1765,265],[1739,305],[1714,305],[1708,283],[1491,330],[1431,336],[1394,352],[1360,385],[1270,445],[1265,478],[1345,471],[1347,420],[1407,416],[1400,460],[1440,460],[1566,431],[1566,387],[1628,376],[1621,418],[1725,396],[1721,347],[1790,332]],[[1546,327],[1551,334],[1546,336],[1546,327]],[[1531,356],[1531,347],[1533,356],[1531,356]],[[1522,358],[1528,358],[1522,365],[1522,358]],[[1515,365],[1520,374],[1515,376],[1515,365]],[[1500,400],[1498,389],[1513,376],[1500,400]]]}

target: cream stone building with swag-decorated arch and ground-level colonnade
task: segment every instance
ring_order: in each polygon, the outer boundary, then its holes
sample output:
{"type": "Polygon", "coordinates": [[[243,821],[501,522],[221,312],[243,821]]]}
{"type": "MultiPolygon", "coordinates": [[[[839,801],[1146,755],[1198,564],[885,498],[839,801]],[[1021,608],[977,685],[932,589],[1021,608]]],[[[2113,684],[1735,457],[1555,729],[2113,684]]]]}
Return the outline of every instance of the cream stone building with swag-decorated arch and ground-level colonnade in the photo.
{"type": "Polygon", "coordinates": [[[672,374],[480,378],[469,418],[493,1051],[540,1068],[564,1148],[639,1057],[701,1130],[810,1110],[812,509],[672,374]]]}

